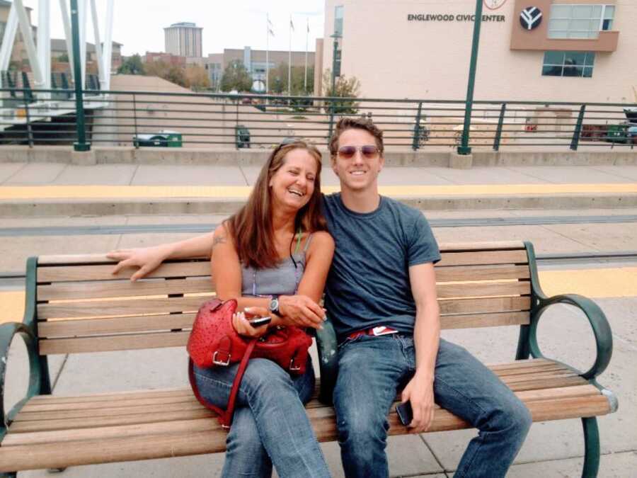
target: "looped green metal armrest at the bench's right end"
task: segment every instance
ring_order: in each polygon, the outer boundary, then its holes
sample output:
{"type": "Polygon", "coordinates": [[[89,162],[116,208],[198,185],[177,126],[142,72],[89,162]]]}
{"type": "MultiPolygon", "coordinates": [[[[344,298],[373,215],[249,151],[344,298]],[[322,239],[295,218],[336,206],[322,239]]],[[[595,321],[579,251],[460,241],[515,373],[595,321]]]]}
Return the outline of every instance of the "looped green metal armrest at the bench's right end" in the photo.
{"type": "Polygon", "coordinates": [[[534,357],[544,358],[537,344],[537,324],[544,311],[554,304],[568,304],[578,307],[584,312],[595,335],[597,357],[590,370],[580,375],[586,380],[595,379],[606,370],[613,354],[613,336],[610,324],[602,309],[595,302],[577,294],[563,294],[554,297],[538,297],[538,304],[531,314],[531,329],[529,334],[529,348],[534,357]]]}

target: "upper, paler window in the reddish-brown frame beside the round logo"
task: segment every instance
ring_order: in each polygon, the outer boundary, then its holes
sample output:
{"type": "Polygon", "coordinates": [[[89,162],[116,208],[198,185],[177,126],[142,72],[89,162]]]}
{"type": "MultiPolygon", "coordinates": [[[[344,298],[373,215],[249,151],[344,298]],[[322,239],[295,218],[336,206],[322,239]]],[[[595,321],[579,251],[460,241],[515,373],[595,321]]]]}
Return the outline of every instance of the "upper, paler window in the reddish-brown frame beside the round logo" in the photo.
{"type": "Polygon", "coordinates": [[[597,38],[600,30],[611,30],[614,5],[551,5],[549,38],[597,38]]]}

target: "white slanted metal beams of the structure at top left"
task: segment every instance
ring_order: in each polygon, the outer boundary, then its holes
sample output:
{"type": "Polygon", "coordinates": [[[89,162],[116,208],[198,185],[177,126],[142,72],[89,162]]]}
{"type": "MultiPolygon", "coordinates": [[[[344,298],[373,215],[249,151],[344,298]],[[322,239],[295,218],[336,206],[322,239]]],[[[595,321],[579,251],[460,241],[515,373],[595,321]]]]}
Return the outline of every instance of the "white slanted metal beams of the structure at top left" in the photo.
{"type": "MultiPolygon", "coordinates": [[[[113,52],[113,1],[106,1],[106,18],[104,25],[104,42],[100,37],[100,28],[98,26],[98,13],[96,8],[96,0],[91,0],[91,15],[88,15],[88,0],[78,0],[78,19],[79,19],[79,38],[80,38],[80,56],[81,56],[81,72],[82,84],[86,78],[86,30],[88,18],[93,23],[93,32],[95,40],[95,50],[98,63],[98,74],[100,78],[101,89],[108,90],[110,88],[110,64],[113,52]]],[[[13,43],[16,40],[18,28],[22,33],[23,41],[27,50],[29,64],[33,71],[34,89],[50,89],[51,87],[51,16],[50,16],[51,0],[38,0],[38,42],[37,50],[33,42],[31,34],[31,25],[24,7],[23,0],[13,0],[11,10],[9,11],[2,46],[0,47],[0,71],[8,69],[11,61],[11,51],[13,43]]],[[[59,0],[60,11],[62,12],[62,23],[64,24],[64,36],[67,40],[67,53],[69,62],[73,62],[73,42],[71,37],[71,19],[69,16],[69,0],[59,0]]],[[[71,68],[71,72],[73,69],[71,68]]],[[[0,87],[3,86],[1,84],[0,87]]],[[[45,99],[45,96],[42,96],[45,99]]]]}

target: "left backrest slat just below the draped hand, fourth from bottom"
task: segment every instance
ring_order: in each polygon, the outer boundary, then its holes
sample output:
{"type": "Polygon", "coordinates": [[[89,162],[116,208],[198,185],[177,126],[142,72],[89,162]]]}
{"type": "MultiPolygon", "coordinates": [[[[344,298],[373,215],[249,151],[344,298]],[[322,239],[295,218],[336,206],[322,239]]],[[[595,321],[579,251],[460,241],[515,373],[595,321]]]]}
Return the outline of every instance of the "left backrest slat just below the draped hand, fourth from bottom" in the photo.
{"type": "Polygon", "coordinates": [[[110,280],[105,282],[53,283],[38,286],[38,300],[77,300],[103,297],[189,294],[214,292],[210,275],[192,279],[110,280]]]}

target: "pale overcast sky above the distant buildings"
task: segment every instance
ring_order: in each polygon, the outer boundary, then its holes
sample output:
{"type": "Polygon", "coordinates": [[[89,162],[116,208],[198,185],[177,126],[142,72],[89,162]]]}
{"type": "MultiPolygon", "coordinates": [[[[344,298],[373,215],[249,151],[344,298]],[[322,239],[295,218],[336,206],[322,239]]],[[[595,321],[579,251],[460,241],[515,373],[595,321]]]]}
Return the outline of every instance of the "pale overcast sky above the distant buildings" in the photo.
{"type": "MultiPolygon", "coordinates": [[[[90,5],[90,0],[87,3],[90,5]]],[[[37,25],[38,0],[24,0],[24,4],[33,8],[31,22],[37,25]]],[[[96,6],[98,29],[103,38],[106,1],[96,0],[96,6]]],[[[50,0],[50,8],[51,36],[64,38],[59,1],[50,0]]],[[[305,51],[309,22],[308,49],[314,51],[316,38],[323,36],[324,10],[324,0],[114,0],[113,40],[123,44],[122,55],[163,52],[163,28],[172,23],[189,21],[203,28],[204,56],[221,53],[224,48],[249,46],[265,50],[265,18],[269,15],[275,33],[269,39],[270,50],[287,51],[289,18],[292,16],[292,50],[305,51]]],[[[90,14],[88,18],[91,18],[90,14]]],[[[92,25],[89,21],[86,37],[89,42],[94,42],[92,25]]]]}

